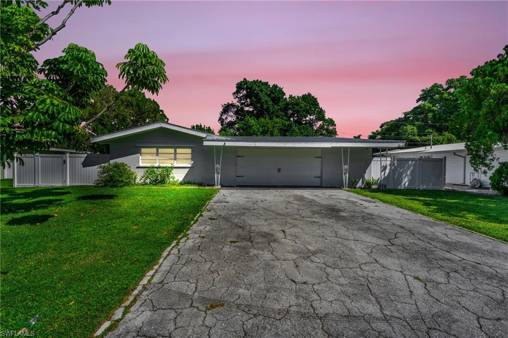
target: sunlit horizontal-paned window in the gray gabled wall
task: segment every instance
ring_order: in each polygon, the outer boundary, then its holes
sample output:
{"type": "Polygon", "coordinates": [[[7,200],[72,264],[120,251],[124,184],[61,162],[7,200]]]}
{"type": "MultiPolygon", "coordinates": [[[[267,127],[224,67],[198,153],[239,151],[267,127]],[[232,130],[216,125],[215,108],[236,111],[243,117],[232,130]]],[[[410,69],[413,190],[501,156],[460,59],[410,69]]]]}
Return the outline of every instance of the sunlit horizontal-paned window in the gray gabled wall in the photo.
{"type": "Polygon", "coordinates": [[[141,165],[191,165],[192,148],[141,148],[141,165]]]}

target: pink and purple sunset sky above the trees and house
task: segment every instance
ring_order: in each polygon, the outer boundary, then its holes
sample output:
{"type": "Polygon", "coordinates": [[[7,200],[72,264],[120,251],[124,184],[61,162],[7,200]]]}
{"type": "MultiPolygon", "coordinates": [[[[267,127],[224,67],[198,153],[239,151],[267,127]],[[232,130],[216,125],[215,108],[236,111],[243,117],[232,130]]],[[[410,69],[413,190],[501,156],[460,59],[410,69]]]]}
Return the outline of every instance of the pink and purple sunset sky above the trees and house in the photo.
{"type": "Polygon", "coordinates": [[[170,81],[154,98],[174,124],[217,132],[220,105],[245,77],[310,92],[339,136],[366,136],[422,88],[495,58],[508,2],[113,2],[78,9],[36,56],[70,42],[96,52],[117,88],[115,65],[147,44],[166,63],[170,81]]]}

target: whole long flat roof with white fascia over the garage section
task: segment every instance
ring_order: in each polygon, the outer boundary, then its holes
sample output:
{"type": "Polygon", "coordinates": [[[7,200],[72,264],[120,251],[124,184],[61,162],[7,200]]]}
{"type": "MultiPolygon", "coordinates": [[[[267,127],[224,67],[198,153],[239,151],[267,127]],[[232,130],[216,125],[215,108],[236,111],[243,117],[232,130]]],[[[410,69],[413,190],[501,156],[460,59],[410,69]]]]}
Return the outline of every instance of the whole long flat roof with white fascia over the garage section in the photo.
{"type": "Polygon", "coordinates": [[[322,136],[223,136],[206,137],[205,145],[274,146],[274,147],[368,147],[395,148],[404,142],[322,136]]]}

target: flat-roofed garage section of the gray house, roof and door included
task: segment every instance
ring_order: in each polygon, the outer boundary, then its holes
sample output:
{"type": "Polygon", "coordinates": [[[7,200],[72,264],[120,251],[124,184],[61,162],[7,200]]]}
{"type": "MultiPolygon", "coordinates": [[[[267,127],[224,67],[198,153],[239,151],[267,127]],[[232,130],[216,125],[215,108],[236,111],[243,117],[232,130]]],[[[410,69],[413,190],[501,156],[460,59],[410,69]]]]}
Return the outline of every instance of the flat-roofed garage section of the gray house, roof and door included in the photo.
{"type": "Polygon", "coordinates": [[[205,138],[214,151],[215,186],[348,187],[365,178],[372,148],[404,142],[338,137],[205,138]],[[227,149],[227,150],[226,150],[227,149]]]}

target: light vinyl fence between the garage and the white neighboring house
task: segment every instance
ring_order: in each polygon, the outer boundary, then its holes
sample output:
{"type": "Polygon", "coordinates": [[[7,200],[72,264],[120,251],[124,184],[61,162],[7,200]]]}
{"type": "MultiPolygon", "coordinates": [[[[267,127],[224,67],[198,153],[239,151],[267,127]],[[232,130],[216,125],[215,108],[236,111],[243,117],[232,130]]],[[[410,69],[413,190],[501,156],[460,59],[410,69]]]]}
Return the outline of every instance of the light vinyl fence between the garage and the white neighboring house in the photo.
{"type": "Polygon", "coordinates": [[[446,158],[373,158],[365,178],[387,189],[444,189],[446,158]]]}

